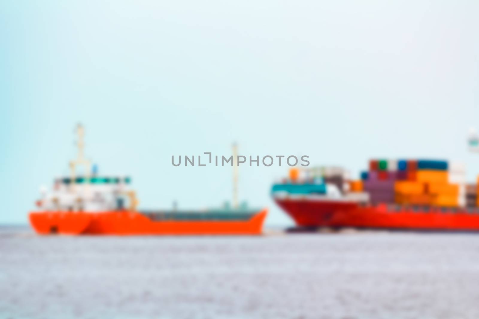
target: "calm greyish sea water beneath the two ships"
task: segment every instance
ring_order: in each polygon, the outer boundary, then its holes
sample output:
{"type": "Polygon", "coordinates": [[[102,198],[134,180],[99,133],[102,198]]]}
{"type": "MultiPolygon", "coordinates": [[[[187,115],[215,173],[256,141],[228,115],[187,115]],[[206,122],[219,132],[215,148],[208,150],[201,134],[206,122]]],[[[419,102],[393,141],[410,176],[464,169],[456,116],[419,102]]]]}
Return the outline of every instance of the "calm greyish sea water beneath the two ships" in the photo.
{"type": "Polygon", "coordinates": [[[0,229],[0,318],[479,318],[479,234],[39,237],[0,229]]]}

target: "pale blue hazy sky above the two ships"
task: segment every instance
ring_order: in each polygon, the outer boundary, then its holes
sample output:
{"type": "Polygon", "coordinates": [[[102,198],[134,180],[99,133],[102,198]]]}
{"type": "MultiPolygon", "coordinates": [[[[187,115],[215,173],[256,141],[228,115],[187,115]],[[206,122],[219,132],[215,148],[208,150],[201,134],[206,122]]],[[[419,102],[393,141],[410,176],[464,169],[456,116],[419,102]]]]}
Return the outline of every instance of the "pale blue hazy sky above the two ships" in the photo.
{"type": "MultiPolygon", "coordinates": [[[[474,180],[478,15],[477,1],[2,1],[0,223],[25,223],[68,172],[78,121],[143,208],[230,199],[230,167],[171,155],[234,140],[355,175],[376,156],[455,159],[474,180]]],[[[240,197],[270,225],[291,224],[269,198],[286,171],[240,168],[240,197]]]]}

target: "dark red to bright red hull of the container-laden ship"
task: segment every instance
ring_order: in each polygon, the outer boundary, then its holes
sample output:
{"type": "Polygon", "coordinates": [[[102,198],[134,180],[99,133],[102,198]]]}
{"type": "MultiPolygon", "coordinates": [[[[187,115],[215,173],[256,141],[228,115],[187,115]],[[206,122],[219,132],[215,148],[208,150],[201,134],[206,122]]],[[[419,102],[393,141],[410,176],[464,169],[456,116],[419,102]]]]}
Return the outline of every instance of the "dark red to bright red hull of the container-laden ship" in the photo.
{"type": "Polygon", "coordinates": [[[328,200],[275,199],[300,227],[417,231],[479,231],[479,213],[465,209],[420,209],[399,205],[359,205],[328,200]]]}

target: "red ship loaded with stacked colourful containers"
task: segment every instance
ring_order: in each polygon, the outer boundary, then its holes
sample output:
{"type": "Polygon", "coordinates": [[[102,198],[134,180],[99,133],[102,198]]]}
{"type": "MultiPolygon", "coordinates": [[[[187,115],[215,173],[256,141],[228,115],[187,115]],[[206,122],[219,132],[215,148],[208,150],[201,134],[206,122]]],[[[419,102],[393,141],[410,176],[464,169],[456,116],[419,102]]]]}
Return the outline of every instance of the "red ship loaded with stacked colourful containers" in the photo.
{"type": "Polygon", "coordinates": [[[360,180],[339,167],[295,168],[272,194],[298,229],[479,231],[477,185],[447,161],[372,160],[360,180]]]}

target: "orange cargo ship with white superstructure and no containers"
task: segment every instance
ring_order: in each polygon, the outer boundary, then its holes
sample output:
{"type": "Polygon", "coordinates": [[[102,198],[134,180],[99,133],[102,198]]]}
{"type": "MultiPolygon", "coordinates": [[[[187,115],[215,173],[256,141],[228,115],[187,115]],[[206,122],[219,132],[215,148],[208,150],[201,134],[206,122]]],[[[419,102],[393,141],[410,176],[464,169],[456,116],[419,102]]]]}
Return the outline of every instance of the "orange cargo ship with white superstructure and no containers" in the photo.
{"type": "MultiPolygon", "coordinates": [[[[29,220],[42,235],[259,235],[267,209],[139,211],[136,193],[128,189],[129,177],[98,176],[83,157],[83,128],[78,127],[79,154],[70,162],[71,175],[57,178],[53,190],[42,189],[29,220]],[[87,175],[76,175],[78,165],[87,175]],[[126,207],[128,204],[128,207],[126,207]]],[[[236,180],[236,178],[235,178],[236,180]]],[[[236,187],[235,187],[236,189],[236,187]]]]}

